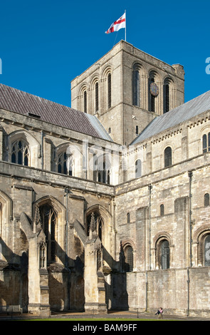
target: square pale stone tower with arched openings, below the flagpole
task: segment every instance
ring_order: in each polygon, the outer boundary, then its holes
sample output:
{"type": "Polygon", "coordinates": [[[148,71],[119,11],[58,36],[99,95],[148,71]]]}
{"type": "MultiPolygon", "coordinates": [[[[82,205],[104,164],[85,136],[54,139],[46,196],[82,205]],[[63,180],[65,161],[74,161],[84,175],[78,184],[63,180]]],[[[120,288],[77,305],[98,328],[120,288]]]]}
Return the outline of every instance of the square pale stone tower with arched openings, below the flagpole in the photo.
{"type": "Polygon", "coordinates": [[[97,116],[121,145],[182,103],[183,66],[170,66],[125,41],[71,82],[71,107],[97,116]]]}

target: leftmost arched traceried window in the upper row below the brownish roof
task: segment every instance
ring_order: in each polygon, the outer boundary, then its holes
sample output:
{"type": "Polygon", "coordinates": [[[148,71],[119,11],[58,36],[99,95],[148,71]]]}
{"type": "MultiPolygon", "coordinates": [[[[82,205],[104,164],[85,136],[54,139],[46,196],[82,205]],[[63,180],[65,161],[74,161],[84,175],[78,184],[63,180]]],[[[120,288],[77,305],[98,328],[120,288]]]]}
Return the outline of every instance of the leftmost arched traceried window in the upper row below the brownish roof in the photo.
{"type": "Polygon", "coordinates": [[[29,149],[23,140],[17,140],[11,145],[11,163],[29,165],[29,149]]]}

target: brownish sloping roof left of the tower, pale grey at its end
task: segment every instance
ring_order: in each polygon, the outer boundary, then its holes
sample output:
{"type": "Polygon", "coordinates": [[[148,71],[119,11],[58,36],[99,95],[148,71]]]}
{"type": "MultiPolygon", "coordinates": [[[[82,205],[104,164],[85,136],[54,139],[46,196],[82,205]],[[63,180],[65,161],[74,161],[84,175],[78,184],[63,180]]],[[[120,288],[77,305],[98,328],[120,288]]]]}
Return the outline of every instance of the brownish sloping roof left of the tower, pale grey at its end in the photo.
{"type": "Polygon", "coordinates": [[[80,112],[3,84],[0,84],[0,108],[23,115],[28,113],[38,115],[40,120],[53,125],[112,141],[95,115],[80,112]]]}

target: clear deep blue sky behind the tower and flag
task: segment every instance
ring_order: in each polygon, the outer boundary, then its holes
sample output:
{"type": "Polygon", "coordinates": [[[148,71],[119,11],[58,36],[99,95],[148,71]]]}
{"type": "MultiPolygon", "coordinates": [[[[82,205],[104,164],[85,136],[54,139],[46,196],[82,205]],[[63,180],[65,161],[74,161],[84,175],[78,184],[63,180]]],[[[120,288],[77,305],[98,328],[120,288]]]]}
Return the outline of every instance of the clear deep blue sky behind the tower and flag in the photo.
{"type": "Polygon", "coordinates": [[[185,70],[185,101],[209,91],[210,1],[3,1],[0,82],[70,106],[70,81],[125,39],[105,34],[126,10],[127,42],[185,70]]]}

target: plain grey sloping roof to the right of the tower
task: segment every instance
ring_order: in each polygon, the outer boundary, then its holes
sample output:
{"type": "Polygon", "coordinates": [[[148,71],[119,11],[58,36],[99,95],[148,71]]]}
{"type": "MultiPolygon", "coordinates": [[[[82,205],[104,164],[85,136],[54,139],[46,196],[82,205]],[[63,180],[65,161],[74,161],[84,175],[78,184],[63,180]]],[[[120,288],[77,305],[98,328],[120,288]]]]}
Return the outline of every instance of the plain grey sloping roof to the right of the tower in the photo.
{"type": "Polygon", "coordinates": [[[180,105],[179,107],[154,118],[142,133],[132,141],[132,145],[142,142],[168,128],[193,118],[206,110],[210,110],[210,91],[180,105]]]}

